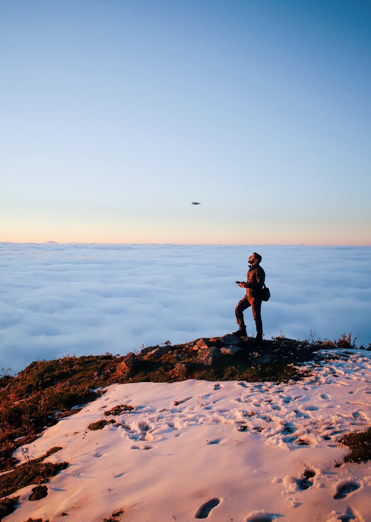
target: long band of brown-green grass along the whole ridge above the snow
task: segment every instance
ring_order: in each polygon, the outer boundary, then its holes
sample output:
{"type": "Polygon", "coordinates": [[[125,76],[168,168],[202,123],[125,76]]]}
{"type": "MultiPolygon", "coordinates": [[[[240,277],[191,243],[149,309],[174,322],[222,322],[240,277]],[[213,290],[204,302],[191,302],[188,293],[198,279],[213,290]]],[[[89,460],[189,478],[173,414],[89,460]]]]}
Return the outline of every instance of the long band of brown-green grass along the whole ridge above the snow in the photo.
{"type": "MultiPolygon", "coordinates": [[[[110,353],[98,356],[75,357],[67,355],[52,361],[35,361],[16,376],[7,370],[0,371],[0,471],[13,469],[17,459],[14,451],[20,445],[32,442],[45,427],[59,419],[76,413],[77,407],[98,398],[99,388],[113,383],[176,382],[185,379],[208,381],[244,380],[249,382],[288,382],[299,380],[305,372],[300,366],[316,360],[317,352],[329,348],[353,349],[352,335],[338,340],[297,341],[283,334],[265,340],[257,353],[253,339],[245,340],[243,351],[236,355],[223,355],[211,366],[197,361],[196,341],[171,346],[163,355],[144,357],[138,352],[124,357],[110,353]],[[121,363],[134,358],[135,364],[121,363]],[[181,370],[177,370],[177,366],[181,370]],[[98,391],[97,391],[98,390],[98,391]]],[[[216,346],[218,347],[218,340],[216,346]]],[[[343,357],[348,357],[345,354],[343,357]]],[[[323,355],[318,359],[323,359],[323,355]]],[[[117,405],[105,415],[119,415],[131,406],[117,405]]]]}

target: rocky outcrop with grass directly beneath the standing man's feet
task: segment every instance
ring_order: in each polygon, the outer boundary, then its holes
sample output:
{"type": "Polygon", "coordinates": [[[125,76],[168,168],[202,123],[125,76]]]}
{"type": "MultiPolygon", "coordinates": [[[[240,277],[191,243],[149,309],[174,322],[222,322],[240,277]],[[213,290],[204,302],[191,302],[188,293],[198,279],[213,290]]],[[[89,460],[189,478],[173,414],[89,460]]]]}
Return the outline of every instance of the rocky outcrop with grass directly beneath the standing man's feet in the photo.
{"type": "Polygon", "coordinates": [[[139,353],[130,352],[118,364],[116,360],[115,373],[106,382],[114,382],[113,378],[117,382],[147,379],[173,382],[197,378],[268,380],[276,379],[278,374],[279,378],[293,377],[300,371],[287,365],[292,350],[300,359],[302,356],[307,358],[314,347],[289,339],[264,340],[262,346],[257,347],[253,337],[232,334],[200,337],[179,345],[166,341],[163,345],[143,347],[139,353]]]}

